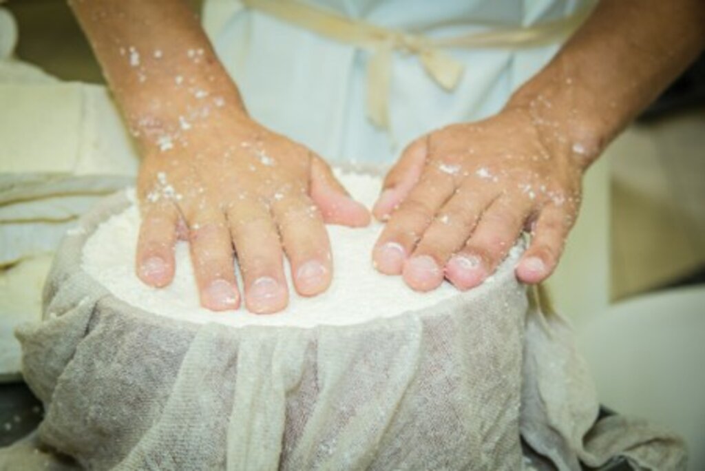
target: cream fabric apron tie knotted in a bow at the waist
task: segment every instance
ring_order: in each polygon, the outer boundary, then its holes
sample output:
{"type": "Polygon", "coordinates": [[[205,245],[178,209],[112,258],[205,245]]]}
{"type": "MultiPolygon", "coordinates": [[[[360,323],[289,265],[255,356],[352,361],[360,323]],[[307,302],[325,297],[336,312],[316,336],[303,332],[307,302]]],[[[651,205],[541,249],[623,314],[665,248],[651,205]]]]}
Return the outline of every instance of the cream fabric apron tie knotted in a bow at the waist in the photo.
{"type": "Polygon", "coordinates": [[[557,43],[574,31],[587,17],[592,1],[560,20],[525,27],[489,26],[488,31],[457,37],[427,37],[421,34],[389,30],[295,0],[242,0],[247,8],[274,16],[279,20],[316,32],[345,44],[372,52],[367,66],[367,115],[379,128],[388,129],[387,109],[391,83],[392,52],[416,54],[429,76],[446,90],[453,90],[464,71],[462,63],[444,49],[503,48],[519,49],[557,43]]]}

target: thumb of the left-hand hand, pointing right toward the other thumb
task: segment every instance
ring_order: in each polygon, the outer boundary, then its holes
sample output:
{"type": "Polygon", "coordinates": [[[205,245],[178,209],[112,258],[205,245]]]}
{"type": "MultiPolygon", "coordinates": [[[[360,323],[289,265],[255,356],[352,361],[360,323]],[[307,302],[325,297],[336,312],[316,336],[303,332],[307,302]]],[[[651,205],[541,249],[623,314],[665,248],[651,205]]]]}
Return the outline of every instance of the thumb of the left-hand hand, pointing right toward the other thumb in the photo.
{"type": "Polygon", "coordinates": [[[311,197],[328,224],[351,227],[369,224],[367,208],[348,195],[331,167],[318,156],[313,156],[311,161],[311,197]]]}

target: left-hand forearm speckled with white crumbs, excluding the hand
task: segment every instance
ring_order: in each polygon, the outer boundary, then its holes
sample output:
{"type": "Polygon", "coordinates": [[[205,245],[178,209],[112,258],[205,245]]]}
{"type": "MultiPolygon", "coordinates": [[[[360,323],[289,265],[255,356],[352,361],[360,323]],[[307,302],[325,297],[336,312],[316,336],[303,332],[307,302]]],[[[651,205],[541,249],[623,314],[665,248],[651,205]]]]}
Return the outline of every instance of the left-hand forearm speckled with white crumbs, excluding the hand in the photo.
{"type": "Polygon", "coordinates": [[[70,0],[143,147],[163,149],[183,130],[244,114],[197,18],[181,0],[70,0]]]}

